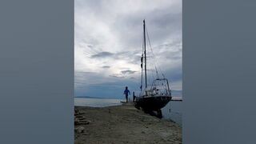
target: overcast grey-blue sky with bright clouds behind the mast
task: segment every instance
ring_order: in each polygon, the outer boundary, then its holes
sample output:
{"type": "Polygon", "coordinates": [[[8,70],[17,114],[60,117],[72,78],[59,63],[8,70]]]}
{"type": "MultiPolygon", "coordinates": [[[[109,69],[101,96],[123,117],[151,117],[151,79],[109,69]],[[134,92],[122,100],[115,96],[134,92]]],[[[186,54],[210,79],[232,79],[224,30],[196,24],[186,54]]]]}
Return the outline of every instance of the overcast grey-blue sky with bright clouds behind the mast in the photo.
{"type": "Polygon", "coordinates": [[[157,62],[173,95],[182,95],[182,0],[75,0],[75,96],[139,90],[143,19],[155,56],[149,67],[157,62]]]}

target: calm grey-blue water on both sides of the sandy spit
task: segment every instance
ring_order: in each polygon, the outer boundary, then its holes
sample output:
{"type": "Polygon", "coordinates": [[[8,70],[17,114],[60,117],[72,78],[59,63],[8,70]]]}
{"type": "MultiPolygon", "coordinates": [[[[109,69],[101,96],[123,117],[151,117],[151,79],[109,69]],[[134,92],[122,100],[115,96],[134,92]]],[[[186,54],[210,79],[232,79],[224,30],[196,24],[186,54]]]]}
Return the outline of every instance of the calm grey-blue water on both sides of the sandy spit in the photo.
{"type": "MultiPolygon", "coordinates": [[[[74,106],[105,107],[122,105],[124,99],[74,98],[74,106]]],[[[182,126],[182,102],[171,101],[162,108],[163,118],[171,119],[182,126]]]]}

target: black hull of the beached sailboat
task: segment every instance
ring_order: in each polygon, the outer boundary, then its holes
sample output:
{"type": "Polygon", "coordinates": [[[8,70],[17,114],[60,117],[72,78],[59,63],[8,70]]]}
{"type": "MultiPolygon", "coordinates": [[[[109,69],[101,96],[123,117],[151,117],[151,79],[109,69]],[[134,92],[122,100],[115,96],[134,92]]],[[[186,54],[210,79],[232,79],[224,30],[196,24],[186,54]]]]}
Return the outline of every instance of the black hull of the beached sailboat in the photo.
{"type": "Polygon", "coordinates": [[[161,110],[168,102],[170,102],[170,96],[158,96],[158,97],[138,97],[135,101],[135,107],[142,108],[142,110],[161,110]]]}

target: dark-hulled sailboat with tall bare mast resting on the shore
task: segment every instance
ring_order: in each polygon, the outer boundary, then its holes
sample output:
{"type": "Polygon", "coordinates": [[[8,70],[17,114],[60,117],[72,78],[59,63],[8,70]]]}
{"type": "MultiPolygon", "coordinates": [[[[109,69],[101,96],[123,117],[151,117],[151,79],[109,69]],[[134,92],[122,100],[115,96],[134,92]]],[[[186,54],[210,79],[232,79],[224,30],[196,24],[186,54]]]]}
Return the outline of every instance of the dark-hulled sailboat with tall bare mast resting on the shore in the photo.
{"type": "MultiPolygon", "coordinates": [[[[158,118],[162,118],[161,109],[166,106],[171,100],[171,91],[168,79],[162,74],[162,78],[158,76],[157,67],[155,67],[157,77],[153,80],[151,85],[148,85],[147,81],[147,63],[146,63],[146,24],[145,19],[143,20],[143,46],[142,46],[142,58],[141,58],[141,68],[142,68],[142,78],[143,78],[143,67],[144,67],[144,82],[141,78],[141,93],[136,97],[134,106],[138,109],[144,110],[145,112],[157,112],[158,118]],[[144,66],[143,66],[144,64],[144,66]]],[[[149,40],[149,39],[148,39],[149,40]]]]}

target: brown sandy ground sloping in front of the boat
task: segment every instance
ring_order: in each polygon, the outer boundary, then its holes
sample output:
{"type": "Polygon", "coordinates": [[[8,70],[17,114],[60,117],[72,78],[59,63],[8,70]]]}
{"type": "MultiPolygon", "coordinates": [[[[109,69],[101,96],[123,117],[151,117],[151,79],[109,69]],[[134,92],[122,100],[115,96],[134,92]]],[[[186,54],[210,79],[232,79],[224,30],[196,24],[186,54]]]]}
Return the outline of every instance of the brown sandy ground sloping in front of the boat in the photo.
{"type": "Polygon", "coordinates": [[[102,108],[75,106],[74,143],[182,143],[182,127],[132,103],[102,108]]]}

